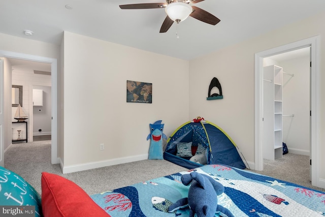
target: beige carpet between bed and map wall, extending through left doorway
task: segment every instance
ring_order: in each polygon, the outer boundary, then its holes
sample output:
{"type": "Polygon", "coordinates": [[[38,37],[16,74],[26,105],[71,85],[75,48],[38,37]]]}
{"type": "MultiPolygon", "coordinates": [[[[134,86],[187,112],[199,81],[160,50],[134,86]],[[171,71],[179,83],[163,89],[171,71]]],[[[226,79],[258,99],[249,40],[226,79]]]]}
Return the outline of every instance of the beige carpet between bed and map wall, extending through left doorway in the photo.
{"type": "Polygon", "coordinates": [[[144,160],[63,174],[59,164],[51,164],[50,140],[11,145],[5,153],[5,167],[23,177],[39,193],[41,173],[46,171],[72,180],[89,195],[187,170],[165,160],[144,160]]]}

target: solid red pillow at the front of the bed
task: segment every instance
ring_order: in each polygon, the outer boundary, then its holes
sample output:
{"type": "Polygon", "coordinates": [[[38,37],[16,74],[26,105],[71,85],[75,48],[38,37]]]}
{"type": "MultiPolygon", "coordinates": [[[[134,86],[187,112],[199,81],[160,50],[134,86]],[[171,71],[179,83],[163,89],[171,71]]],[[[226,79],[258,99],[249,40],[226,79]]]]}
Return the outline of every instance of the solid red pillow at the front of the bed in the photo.
{"type": "Polygon", "coordinates": [[[110,216],[76,183],[47,172],[42,173],[41,181],[44,217],[110,216]]]}

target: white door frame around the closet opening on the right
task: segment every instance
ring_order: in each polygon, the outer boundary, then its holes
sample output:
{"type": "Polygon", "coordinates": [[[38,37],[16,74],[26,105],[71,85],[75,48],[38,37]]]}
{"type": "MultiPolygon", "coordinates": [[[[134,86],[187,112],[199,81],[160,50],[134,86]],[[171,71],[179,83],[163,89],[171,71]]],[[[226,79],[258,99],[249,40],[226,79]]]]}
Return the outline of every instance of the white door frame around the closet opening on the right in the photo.
{"type": "Polygon", "coordinates": [[[263,170],[263,59],[280,53],[310,47],[311,67],[311,184],[319,187],[319,36],[255,53],[255,170],[263,170]]]}

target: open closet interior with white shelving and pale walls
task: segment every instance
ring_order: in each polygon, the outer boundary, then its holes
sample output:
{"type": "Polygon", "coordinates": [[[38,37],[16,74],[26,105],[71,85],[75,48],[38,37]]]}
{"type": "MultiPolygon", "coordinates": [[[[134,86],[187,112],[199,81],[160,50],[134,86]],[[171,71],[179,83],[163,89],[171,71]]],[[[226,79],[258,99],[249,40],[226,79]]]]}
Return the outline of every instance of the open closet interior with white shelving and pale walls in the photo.
{"type": "Polygon", "coordinates": [[[271,56],[265,61],[264,159],[282,158],[282,143],[290,153],[310,155],[310,57],[309,47],[303,49],[306,55],[271,56]]]}

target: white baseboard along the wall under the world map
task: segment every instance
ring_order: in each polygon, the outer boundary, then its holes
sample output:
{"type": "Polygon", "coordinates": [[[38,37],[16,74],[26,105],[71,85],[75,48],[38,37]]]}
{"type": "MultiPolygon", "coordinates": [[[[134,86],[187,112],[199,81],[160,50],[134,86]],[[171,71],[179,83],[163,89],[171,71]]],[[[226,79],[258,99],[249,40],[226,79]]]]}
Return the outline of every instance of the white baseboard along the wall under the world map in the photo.
{"type": "Polygon", "coordinates": [[[135,162],[135,161],[142,161],[142,160],[147,160],[149,157],[149,154],[141,154],[137,156],[130,156],[126,158],[115,158],[111,160],[106,160],[106,161],[96,161],[96,162],[90,162],[86,164],[75,164],[71,166],[64,166],[63,162],[60,160],[60,165],[62,168],[62,173],[72,173],[72,172],[79,172],[83,170],[90,170],[90,169],[95,169],[95,168],[100,168],[100,167],[108,167],[108,166],[113,166],[117,164],[124,164],[124,163],[130,163],[130,162],[135,162]]]}

